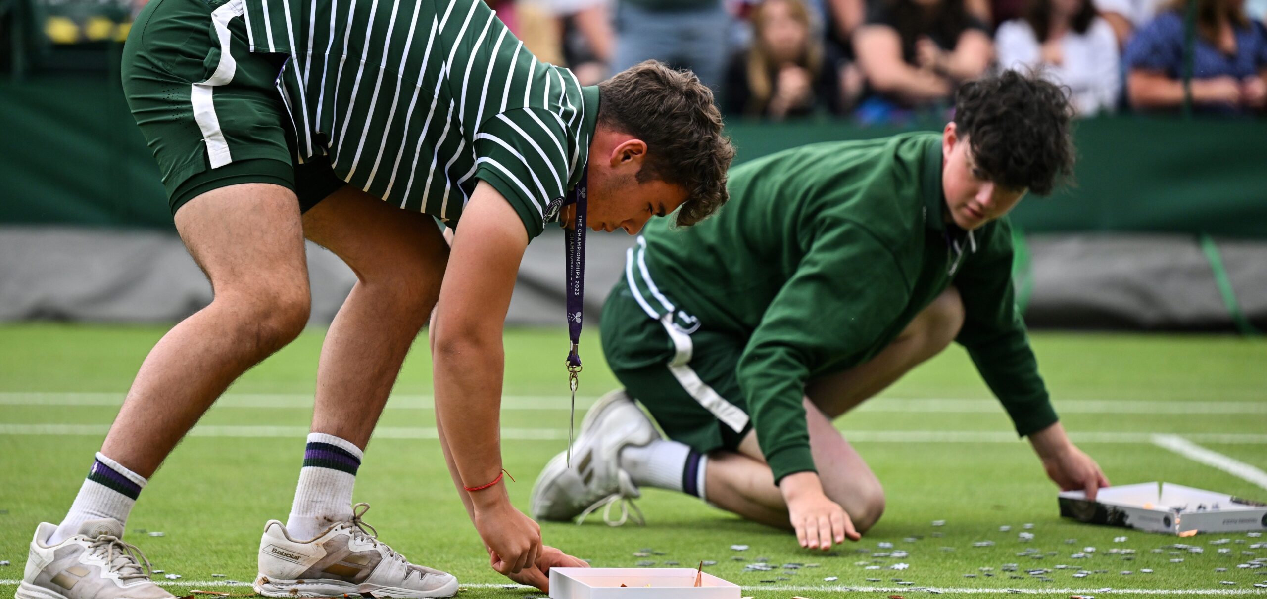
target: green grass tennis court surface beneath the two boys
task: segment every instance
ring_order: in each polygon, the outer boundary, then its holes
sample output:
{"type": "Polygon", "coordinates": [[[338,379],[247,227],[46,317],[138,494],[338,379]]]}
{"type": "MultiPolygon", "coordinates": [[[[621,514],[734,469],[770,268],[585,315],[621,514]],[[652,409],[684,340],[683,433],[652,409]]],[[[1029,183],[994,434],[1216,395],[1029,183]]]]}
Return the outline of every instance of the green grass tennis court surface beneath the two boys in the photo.
{"type": "MultiPolygon", "coordinates": [[[[0,560],[11,562],[0,566],[4,596],[11,596],[22,577],[35,524],[62,518],[141,360],[165,331],[0,327],[0,560]]],[[[191,589],[250,594],[250,586],[227,581],[253,579],[264,523],[284,520],[289,512],[322,333],[309,329],[250,371],[167,460],[137,503],[128,541],[156,569],[181,576],[156,576],[176,594],[191,589]]],[[[356,500],[372,505],[366,520],[395,550],[414,562],[454,572],[462,581],[461,596],[541,596],[531,589],[504,589],[506,579],[481,557],[479,538],[435,439],[431,366],[423,346],[407,361],[366,451],[356,500]]],[[[1267,343],[1233,337],[1038,333],[1034,346],[1072,439],[1115,484],[1164,480],[1267,499],[1262,481],[1243,477],[1244,471],[1233,475],[1154,443],[1154,434],[1175,434],[1251,471],[1267,470],[1267,343]]],[[[566,443],[565,347],[561,329],[511,331],[506,338],[503,455],[507,470],[518,479],[508,488],[523,510],[537,472],[566,443]]],[[[583,342],[583,357],[584,399],[578,401],[578,419],[589,401],[614,386],[593,331],[583,342]]],[[[829,555],[801,550],[791,533],[659,490],[646,490],[639,501],[646,527],[609,528],[592,517],[582,527],[545,523],[542,534],[546,543],[595,566],[653,560],[656,566],[677,561],[693,567],[699,560],[713,560],[717,565],[707,571],[742,585],[745,595],[758,599],[929,594],[916,588],[958,596],[992,596],[1009,589],[1053,598],[1074,593],[1267,596],[1267,588],[1254,586],[1267,584],[1267,567],[1237,567],[1267,558],[1267,537],[1229,533],[1180,539],[1062,520],[1055,488],[990,398],[967,356],[954,348],[839,420],[884,482],[888,508],[862,542],[829,555]],[[933,520],[945,520],[945,526],[934,527],[933,520]],[[1025,531],[1026,523],[1033,529],[1025,531]],[[1002,526],[1011,529],[1000,531],[1002,526]],[[1034,539],[1020,541],[1022,531],[1034,539]],[[1126,541],[1114,542],[1121,536],[1126,541]],[[1230,541],[1211,543],[1221,538],[1230,541]],[[982,541],[995,545],[973,545],[982,541]],[[1180,542],[1202,551],[1169,547],[1180,542]],[[892,543],[892,548],[878,543],[892,543]],[[732,551],[731,545],[750,548],[732,551]],[[1086,552],[1086,547],[1096,551],[1086,552]],[[1163,551],[1153,551],[1158,548],[1163,551]],[[1224,548],[1229,551],[1220,552],[1224,548]],[[634,555],[642,550],[653,555],[634,555]],[[907,555],[869,555],[895,550],[907,555]],[[1072,558],[1077,552],[1088,557],[1072,558]],[[744,571],[759,558],[768,558],[774,569],[744,571]],[[783,564],[818,566],[784,571],[783,564]],[[897,564],[908,567],[891,569],[897,564]],[[1016,571],[1006,571],[1011,564],[1016,571]],[[1026,572],[1035,569],[1049,569],[1040,575],[1052,580],[1026,572]],[[1079,569],[1092,574],[1074,577],[1079,569]],[[832,576],[836,580],[824,580],[832,576]]]]}

